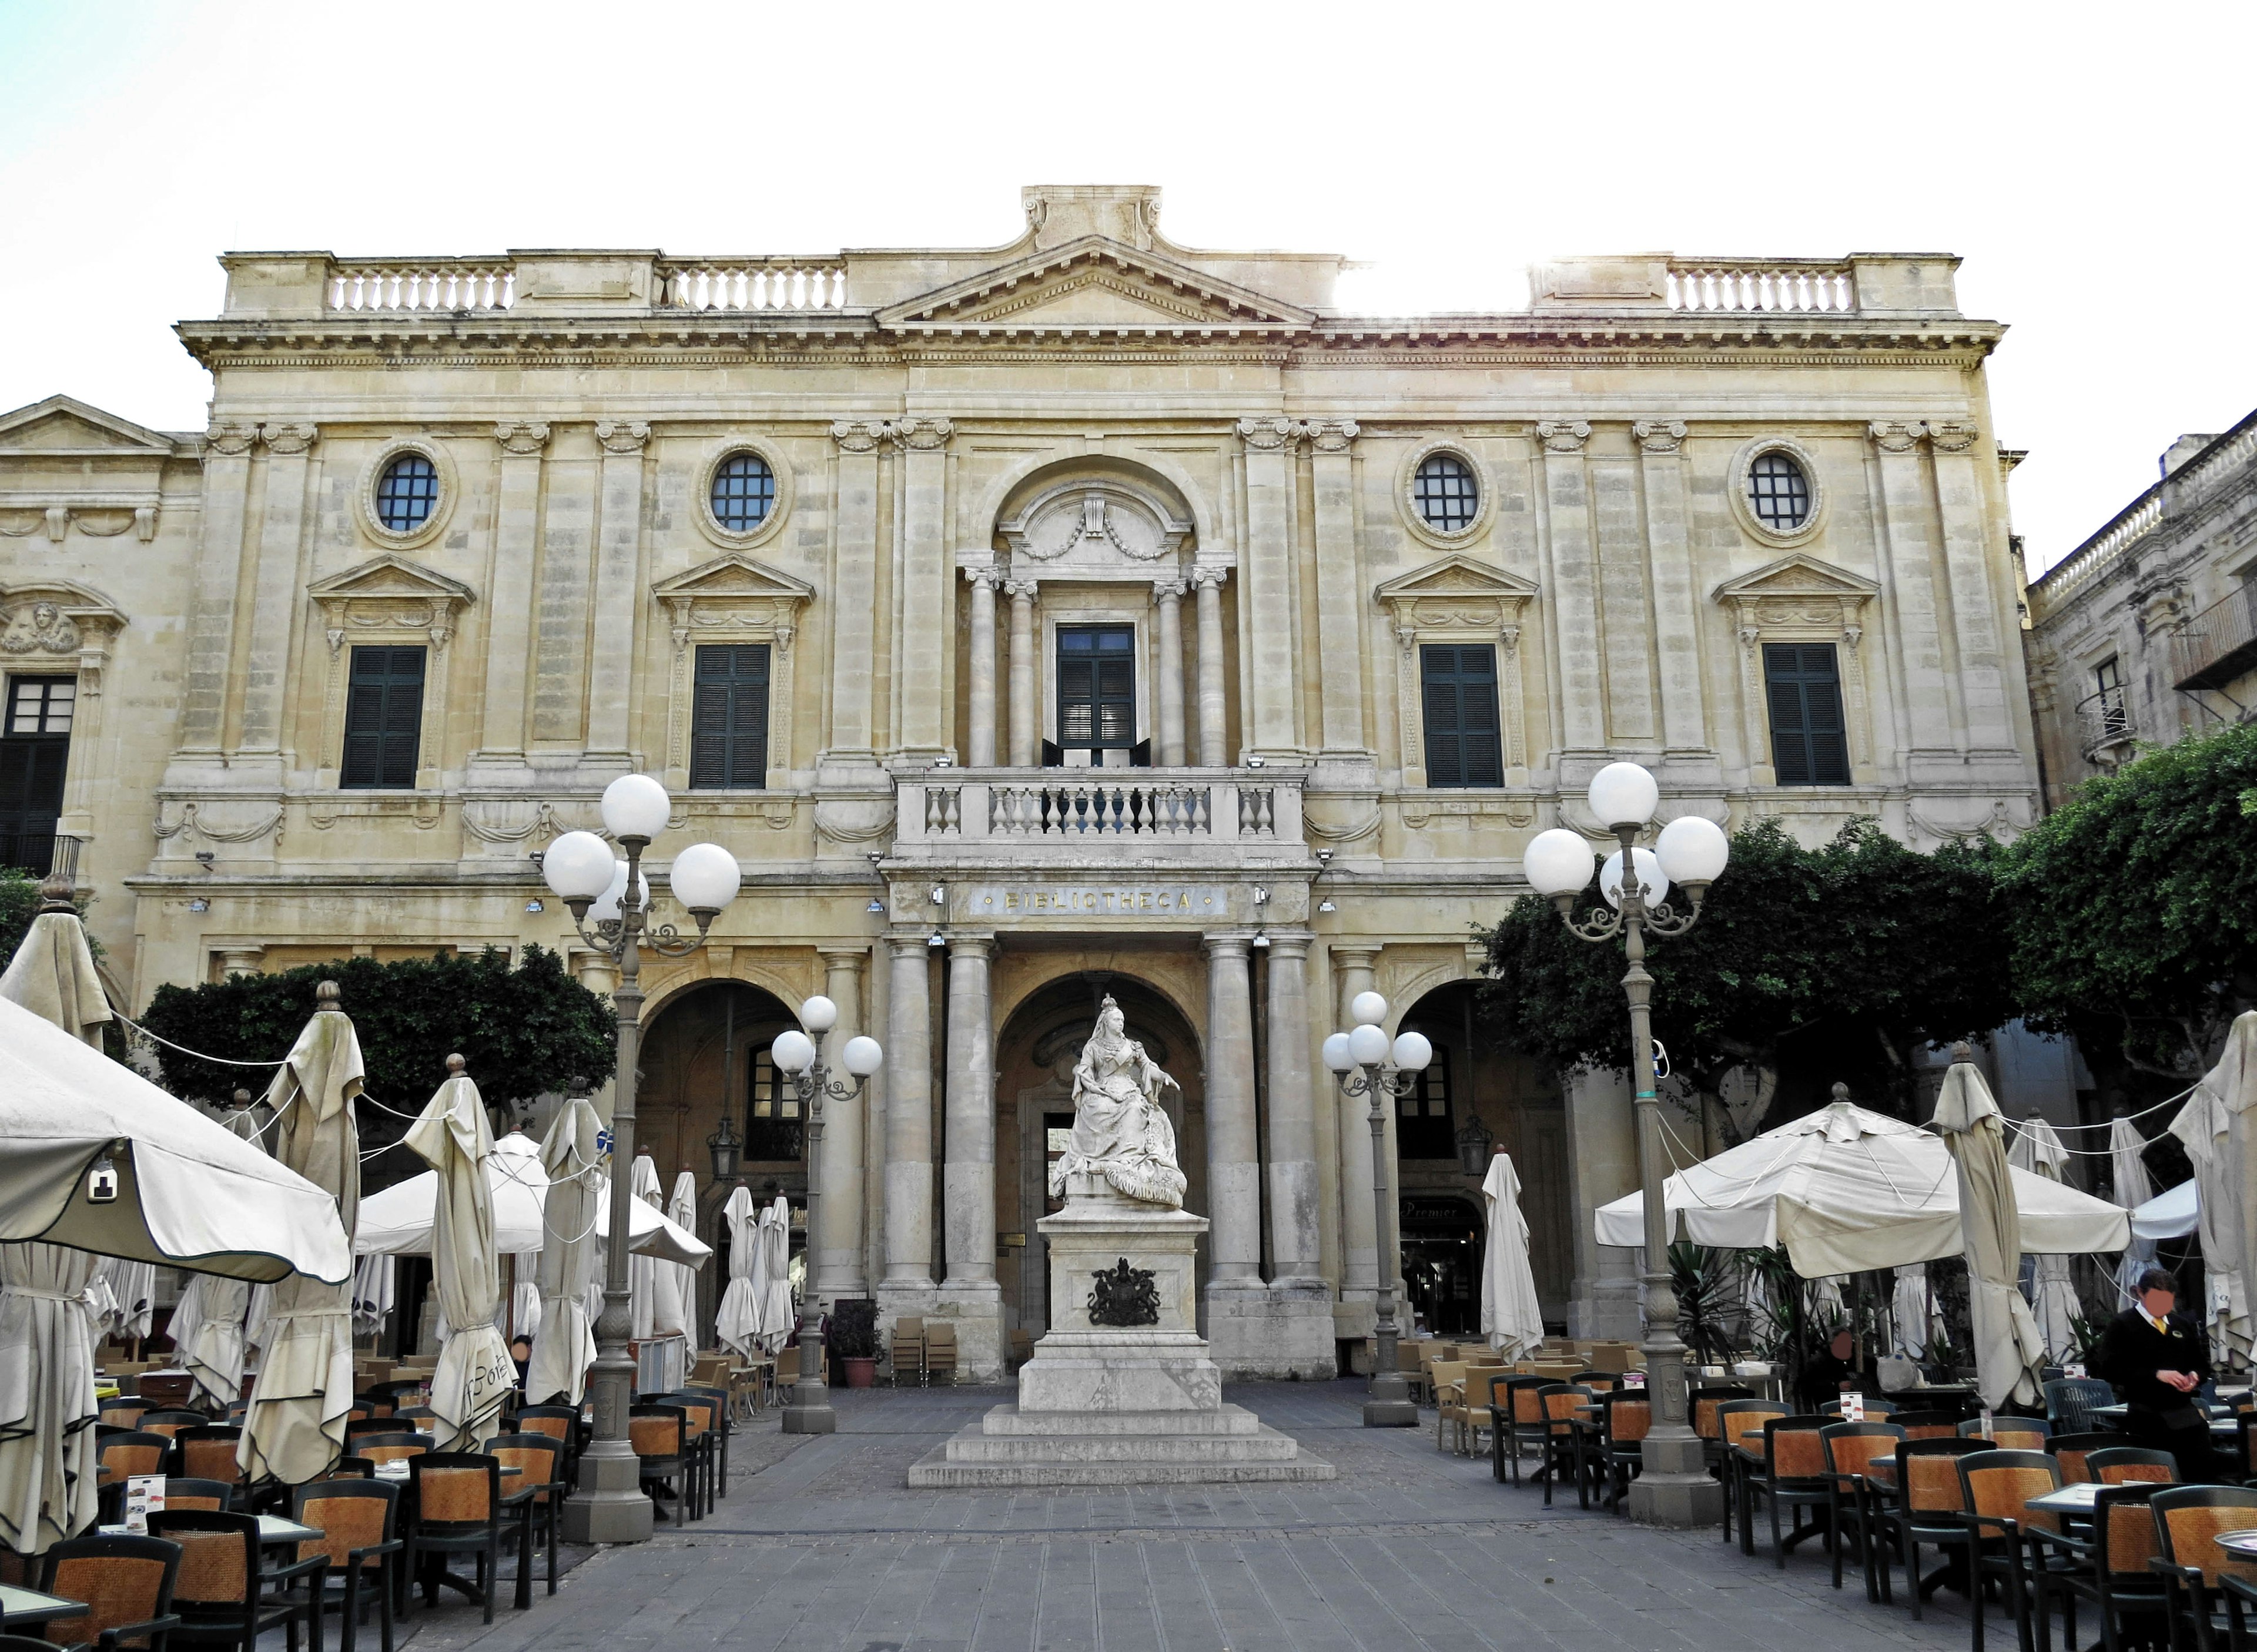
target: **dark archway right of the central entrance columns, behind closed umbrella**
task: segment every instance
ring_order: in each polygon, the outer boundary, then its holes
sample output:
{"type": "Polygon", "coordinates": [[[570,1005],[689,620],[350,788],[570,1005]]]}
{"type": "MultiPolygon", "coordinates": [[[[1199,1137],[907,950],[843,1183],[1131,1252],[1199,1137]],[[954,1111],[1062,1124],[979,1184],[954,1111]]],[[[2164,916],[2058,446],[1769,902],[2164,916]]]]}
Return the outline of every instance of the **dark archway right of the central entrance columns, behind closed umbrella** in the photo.
{"type": "Polygon", "coordinates": [[[1395,1104],[1404,1289],[1444,1336],[1481,1327],[1481,1178],[1458,1158],[1458,1137],[1469,1131],[1508,1151],[1519,1171],[1528,1266],[1546,1320],[1566,1323],[1575,1273],[1560,1081],[1503,1040],[1478,991],[1476,982],[1438,986],[1402,1018],[1406,1031],[1433,1043],[1433,1063],[1395,1104]]]}

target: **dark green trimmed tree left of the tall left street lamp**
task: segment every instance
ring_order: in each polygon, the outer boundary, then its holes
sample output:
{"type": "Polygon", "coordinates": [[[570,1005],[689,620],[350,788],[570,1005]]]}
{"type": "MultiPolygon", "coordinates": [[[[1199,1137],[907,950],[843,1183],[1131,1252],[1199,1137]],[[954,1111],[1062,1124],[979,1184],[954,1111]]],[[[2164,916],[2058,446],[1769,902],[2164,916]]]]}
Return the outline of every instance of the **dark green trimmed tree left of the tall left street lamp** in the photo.
{"type": "MultiPolygon", "coordinates": [[[[415,1113],[431,1099],[456,1052],[490,1104],[530,1101],[576,1077],[603,1083],[612,1074],[609,1000],[580,986],[539,946],[528,946],[517,968],[508,952],[488,948],[476,957],[433,952],[395,964],[352,957],[280,975],[158,986],[142,1025],[201,1056],[280,1061],[314,1013],[320,982],[336,982],[352,1016],[368,1097],[397,1113],[415,1113]]],[[[226,1099],[237,1086],[266,1083],[255,1067],[201,1061],[167,1045],[158,1045],[158,1065],[160,1083],[183,1097],[226,1099]]]]}

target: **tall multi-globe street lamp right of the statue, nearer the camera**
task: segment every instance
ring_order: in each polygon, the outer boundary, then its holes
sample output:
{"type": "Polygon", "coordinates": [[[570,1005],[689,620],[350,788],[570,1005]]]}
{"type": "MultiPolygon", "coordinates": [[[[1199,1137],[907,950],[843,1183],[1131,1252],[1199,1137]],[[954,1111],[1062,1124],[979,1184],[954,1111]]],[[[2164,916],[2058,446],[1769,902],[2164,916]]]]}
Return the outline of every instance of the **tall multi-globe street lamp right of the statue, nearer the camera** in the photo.
{"type": "Polygon", "coordinates": [[[1645,973],[1645,934],[1684,934],[1700,919],[1709,885],[1731,860],[1731,844],[1715,821],[1684,815],[1661,828],[1652,849],[1639,849],[1639,833],[1661,803],[1654,776],[1636,763],[1609,763],[1591,776],[1591,812],[1621,844],[1598,873],[1598,891],[1611,912],[1575,916],[1575,896],[1591,882],[1591,842],[1582,833],[1553,828],[1537,833],[1521,871],[1528,887],[1560,907],[1560,919],[1584,941],[1623,937],[1630,968],[1623,995],[1630,1000],[1630,1072],[1636,1079],[1639,1178],[1645,1183],[1645,1386],[1652,1426],[1643,1444],[1643,1471],[1630,1487],[1632,1519],[1652,1526],[1713,1526],[1724,1517],[1724,1492],[1709,1476],[1700,1435],[1686,1411],[1686,1345],[1677,1336],[1677,1293],[1670,1289],[1670,1225],[1661,1189],[1668,1176],[1661,1151],[1661,1097],[1654,1090],[1654,977],[1645,973]],[[1623,862],[1630,878],[1623,878],[1623,862]],[[1686,912],[1663,900],[1670,885],[1686,891],[1686,912]]]}

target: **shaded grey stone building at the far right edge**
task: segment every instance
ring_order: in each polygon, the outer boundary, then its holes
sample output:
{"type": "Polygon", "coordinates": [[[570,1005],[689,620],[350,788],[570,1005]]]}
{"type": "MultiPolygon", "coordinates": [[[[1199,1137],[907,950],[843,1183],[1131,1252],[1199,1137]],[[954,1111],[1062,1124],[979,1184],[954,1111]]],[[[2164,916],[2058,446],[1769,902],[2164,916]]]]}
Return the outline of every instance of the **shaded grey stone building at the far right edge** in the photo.
{"type": "Polygon", "coordinates": [[[2162,478],[2029,587],[2047,806],[2142,745],[2257,715],[2257,413],[2180,436],[2162,478]]]}

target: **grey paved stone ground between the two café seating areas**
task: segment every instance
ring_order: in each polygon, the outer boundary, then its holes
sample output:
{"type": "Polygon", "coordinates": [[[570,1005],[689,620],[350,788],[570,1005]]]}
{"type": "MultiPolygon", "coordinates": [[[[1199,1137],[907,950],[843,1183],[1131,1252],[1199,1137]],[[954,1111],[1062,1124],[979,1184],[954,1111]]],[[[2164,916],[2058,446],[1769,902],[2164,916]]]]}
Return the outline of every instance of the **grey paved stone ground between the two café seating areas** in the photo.
{"type": "MultiPolygon", "coordinates": [[[[634,1548],[569,1555],[492,1627],[418,1611],[418,1652],[1900,1652],[1959,1647],[1959,1602],[1912,1623],[1835,1593],[1817,1544],[1747,1559],[1496,1485],[1424,1431],[1359,1426],[1361,1383],[1228,1397],[1338,1465],[1325,1485],[910,1492],[910,1462],[1004,1388],[837,1390],[840,1433],[738,1433],[729,1499],[634,1548]]],[[[372,1629],[370,1629],[372,1632],[372,1629]]],[[[2011,1634],[1993,1623],[1993,1632],[2011,1634]]],[[[336,1634],[334,1623],[330,1634],[336,1634]]],[[[363,1641],[363,1645],[370,1645],[363,1641]]]]}

